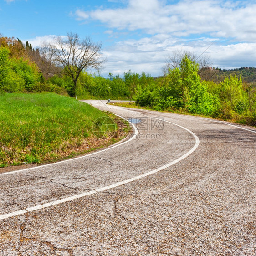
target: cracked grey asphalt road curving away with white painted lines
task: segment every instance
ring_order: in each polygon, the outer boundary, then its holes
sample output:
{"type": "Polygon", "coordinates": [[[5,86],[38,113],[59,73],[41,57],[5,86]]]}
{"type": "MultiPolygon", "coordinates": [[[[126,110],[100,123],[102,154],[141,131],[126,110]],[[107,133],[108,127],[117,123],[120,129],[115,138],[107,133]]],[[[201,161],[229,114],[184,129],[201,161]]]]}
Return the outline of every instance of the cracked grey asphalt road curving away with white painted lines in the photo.
{"type": "Polygon", "coordinates": [[[133,135],[0,174],[0,255],[256,255],[256,129],[87,102],[133,135]]]}

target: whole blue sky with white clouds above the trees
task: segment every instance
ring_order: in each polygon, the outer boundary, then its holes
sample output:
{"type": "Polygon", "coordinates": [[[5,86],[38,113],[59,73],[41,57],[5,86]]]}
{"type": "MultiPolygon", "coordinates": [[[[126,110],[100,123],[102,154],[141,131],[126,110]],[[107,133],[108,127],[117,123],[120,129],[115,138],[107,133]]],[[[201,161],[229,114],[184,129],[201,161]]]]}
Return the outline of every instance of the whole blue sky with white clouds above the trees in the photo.
{"type": "Polygon", "coordinates": [[[4,36],[36,48],[67,31],[102,41],[102,76],[159,76],[177,49],[209,55],[212,67],[256,67],[255,0],[0,0],[4,36]]]}

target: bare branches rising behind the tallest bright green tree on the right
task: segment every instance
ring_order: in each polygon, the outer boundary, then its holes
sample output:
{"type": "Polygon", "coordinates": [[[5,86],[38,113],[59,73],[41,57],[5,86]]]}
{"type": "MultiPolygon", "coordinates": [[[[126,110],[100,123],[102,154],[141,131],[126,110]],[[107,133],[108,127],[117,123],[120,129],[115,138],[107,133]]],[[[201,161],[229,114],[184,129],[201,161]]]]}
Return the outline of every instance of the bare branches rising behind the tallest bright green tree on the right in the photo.
{"type": "Polygon", "coordinates": [[[209,55],[201,54],[200,56],[196,56],[191,51],[185,51],[185,50],[179,49],[174,51],[172,55],[167,56],[166,63],[164,67],[162,67],[164,76],[169,72],[169,70],[179,67],[184,56],[187,56],[192,61],[195,61],[198,63],[199,65],[198,74],[203,80],[210,80],[215,75],[215,69],[212,69],[210,67],[212,63],[209,55]]]}

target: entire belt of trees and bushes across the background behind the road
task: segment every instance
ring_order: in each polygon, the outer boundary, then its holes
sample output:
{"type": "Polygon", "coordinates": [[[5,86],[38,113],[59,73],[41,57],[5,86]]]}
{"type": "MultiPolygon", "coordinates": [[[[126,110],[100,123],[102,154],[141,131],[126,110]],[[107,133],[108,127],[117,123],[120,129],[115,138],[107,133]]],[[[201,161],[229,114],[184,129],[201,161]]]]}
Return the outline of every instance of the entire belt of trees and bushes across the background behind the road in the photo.
{"type": "Polygon", "coordinates": [[[56,37],[34,49],[29,42],[0,36],[0,91],[56,92],[78,98],[135,100],[156,110],[188,112],[256,124],[256,88],[238,71],[210,67],[208,56],[176,51],[167,57],[163,76],[128,71],[123,76],[99,75],[104,58],[101,43],[80,40],[75,33],[56,37]],[[94,74],[88,69],[95,70],[94,74]],[[222,76],[222,77],[221,77],[222,76]]]}

